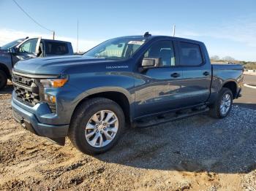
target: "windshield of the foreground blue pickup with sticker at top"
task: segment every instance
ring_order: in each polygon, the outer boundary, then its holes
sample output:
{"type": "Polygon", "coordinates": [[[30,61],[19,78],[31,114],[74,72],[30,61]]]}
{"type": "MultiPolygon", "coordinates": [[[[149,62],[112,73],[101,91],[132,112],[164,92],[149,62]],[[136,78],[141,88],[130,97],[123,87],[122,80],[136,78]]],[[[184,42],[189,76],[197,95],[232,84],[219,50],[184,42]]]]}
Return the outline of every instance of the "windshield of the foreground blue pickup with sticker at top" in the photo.
{"type": "Polygon", "coordinates": [[[84,55],[94,58],[125,60],[131,58],[136,50],[146,42],[143,37],[123,37],[102,42],[84,55]]]}

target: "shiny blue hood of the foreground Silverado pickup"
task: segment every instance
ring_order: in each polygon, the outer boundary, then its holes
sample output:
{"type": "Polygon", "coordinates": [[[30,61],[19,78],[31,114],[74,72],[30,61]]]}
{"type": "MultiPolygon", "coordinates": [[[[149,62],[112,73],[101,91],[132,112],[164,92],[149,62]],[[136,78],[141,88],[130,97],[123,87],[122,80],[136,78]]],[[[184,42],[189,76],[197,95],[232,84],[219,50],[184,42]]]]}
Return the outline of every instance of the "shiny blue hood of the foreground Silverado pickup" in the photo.
{"type": "Polygon", "coordinates": [[[14,66],[14,71],[24,74],[63,74],[65,70],[71,67],[108,62],[110,61],[105,58],[94,58],[83,55],[33,58],[26,61],[18,61],[14,66]]]}

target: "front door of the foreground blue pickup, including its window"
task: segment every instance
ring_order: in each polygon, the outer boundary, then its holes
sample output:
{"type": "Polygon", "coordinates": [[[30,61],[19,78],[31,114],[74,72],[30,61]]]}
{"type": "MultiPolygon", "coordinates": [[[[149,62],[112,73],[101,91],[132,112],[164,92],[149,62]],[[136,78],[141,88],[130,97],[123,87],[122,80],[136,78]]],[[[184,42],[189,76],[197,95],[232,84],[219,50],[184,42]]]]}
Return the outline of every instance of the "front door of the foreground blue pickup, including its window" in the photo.
{"type": "Polygon", "coordinates": [[[159,58],[159,66],[143,70],[135,77],[135,117],[177,108],[181,104],[178,100],[183,74],[176,66],[172,41],[154,42],[143,58],[159,58]]]}

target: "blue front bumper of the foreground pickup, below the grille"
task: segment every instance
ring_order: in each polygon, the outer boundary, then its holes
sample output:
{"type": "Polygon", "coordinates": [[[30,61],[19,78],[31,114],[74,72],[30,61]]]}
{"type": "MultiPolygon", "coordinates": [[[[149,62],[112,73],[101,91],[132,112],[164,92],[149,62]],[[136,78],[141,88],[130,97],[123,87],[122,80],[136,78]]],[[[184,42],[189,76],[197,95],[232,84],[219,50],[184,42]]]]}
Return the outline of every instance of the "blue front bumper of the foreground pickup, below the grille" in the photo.
{"type": "Polygon", "coordinates": [[[16,121],[18,121],[23,128],[31,131],[31,133],[38,136],[44,136],[52,139],[58,144],[63,145],[63,139],[67,136],[69,125],[49,125],[39,122],[35,114],[28,112],[22,107],[15,104],[12,99],[12,113],[16,121]]]}

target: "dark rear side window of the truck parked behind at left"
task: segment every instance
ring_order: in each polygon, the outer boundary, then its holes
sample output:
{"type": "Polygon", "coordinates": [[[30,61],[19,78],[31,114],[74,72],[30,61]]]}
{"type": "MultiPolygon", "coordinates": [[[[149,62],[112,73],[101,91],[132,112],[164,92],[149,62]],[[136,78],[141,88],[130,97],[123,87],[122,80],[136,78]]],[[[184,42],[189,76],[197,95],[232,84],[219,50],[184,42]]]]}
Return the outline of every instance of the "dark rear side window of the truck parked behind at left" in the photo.
{"type": "Polygon", "coordinates": [[[48,55],[65,55],[68,52],[66,43],[45,42],[45,53],[48,55]]]}

